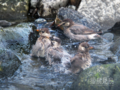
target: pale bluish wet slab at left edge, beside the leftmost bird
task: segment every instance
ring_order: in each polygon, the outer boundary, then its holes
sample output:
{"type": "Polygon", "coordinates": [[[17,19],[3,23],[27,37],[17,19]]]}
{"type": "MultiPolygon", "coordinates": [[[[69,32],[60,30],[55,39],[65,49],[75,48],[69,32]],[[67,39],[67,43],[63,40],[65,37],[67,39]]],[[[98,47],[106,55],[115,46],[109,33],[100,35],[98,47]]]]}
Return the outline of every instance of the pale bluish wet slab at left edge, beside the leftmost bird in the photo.
{"type": "Polygon", "coordinates": [[[16,53],[29,53],[29,34],[32,31],[28,23],[0,30],[0,47],[11,49],[16,53]]]}

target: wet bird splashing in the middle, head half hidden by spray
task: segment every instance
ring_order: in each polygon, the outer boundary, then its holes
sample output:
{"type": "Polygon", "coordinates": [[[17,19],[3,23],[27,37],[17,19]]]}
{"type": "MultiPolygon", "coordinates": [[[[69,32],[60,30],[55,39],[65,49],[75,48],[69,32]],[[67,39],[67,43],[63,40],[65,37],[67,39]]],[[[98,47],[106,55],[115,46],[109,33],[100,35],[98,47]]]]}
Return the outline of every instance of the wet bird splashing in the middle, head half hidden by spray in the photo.
{"type": "Polygon", "coordinates": [[[70,58],[71,55],[61,47],[61,39],[53,36],[51,38],[51,46],[46,51],[46,61],[49,62],[49,65],[59,62],[65,66],[65,64],[70,63],[70,58]]]}

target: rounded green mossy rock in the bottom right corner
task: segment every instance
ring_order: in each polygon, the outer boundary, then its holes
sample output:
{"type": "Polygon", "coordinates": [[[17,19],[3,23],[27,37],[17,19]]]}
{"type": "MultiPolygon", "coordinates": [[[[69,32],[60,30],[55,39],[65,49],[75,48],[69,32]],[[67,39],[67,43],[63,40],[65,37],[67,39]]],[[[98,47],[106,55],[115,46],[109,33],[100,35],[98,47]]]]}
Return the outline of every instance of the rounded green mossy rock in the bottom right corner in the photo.
{"type": "Polygon", "coordinates": [[[79,74],[71,90],[119,90],[120,64],[91,67],[79,74]]]}

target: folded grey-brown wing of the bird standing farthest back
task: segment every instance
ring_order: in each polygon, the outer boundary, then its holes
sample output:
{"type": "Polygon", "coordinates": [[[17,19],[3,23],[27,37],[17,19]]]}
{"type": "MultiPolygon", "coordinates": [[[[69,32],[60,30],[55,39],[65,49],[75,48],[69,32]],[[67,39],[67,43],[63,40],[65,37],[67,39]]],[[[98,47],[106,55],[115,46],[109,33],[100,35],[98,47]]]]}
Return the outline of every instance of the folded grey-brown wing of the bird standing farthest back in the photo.
{"type": "Polygon", "coordinates": [[[93,34],[95,33],[94,30],[92,29],[89,29],[83,25],[73,25],[72,27],[69,28],[70,31],[73,33],[73,34],[84,34],[84,35],[87,35],[87,34],[93,34]]]}

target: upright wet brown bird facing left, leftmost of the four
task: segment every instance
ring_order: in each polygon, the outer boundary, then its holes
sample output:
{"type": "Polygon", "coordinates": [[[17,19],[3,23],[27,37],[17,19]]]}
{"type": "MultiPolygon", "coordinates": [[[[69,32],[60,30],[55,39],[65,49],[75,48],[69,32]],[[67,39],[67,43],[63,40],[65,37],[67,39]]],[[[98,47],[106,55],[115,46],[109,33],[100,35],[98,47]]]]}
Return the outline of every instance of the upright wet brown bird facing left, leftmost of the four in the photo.
{"type": "Polygon", "coordinates": [[[46,50],[51,45],[51,35],[48,28],[42,28],[36,31],[39,32],[40,37],[37,39],[35,45],[32,46],[31,56],[45,58],[46,50]]]}

